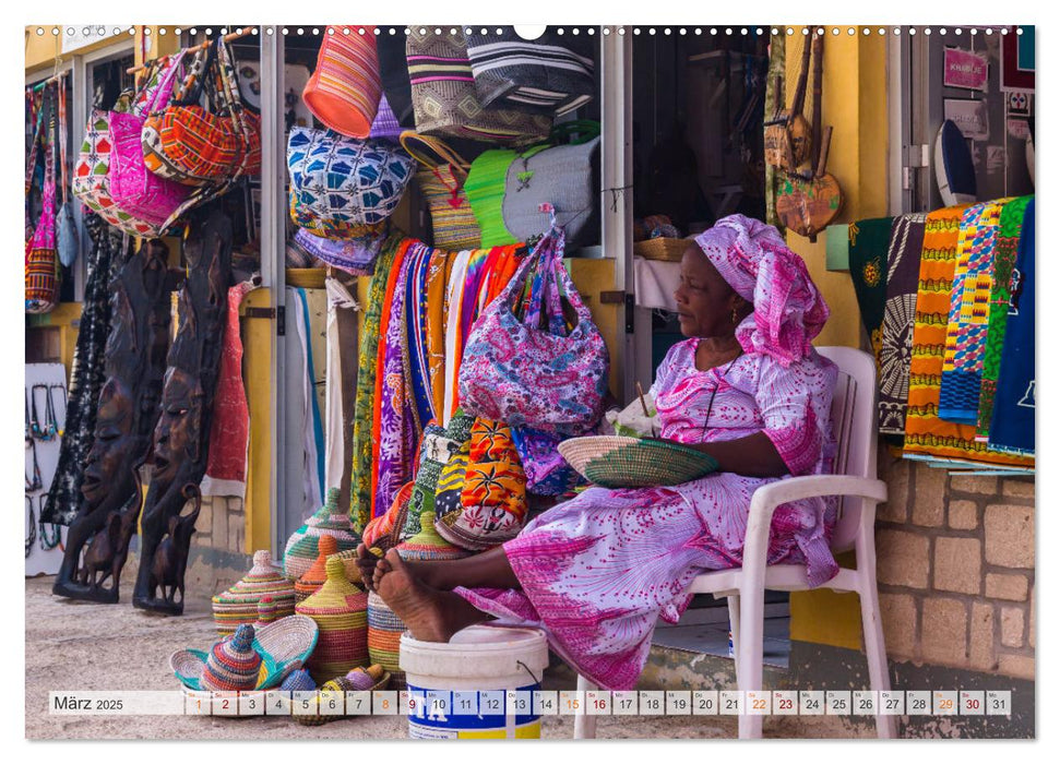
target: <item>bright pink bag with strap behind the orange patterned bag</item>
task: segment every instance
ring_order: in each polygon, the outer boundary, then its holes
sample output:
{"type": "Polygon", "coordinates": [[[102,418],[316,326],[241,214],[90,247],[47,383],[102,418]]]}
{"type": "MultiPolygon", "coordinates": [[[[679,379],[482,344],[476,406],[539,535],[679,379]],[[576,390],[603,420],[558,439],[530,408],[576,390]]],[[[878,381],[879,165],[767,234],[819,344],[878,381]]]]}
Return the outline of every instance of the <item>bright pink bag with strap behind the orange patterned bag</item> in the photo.
{"type": "Polygon", "coordinates": [[[166,108],[172,97],[172,84],[183,58],[180,51],[162,75],[143,115],[132,112],[110,114],[110,198],[119,210],[157,226],[163,232],[189,205],[192,189],[177,181],[154,175],[143,160],[143,131],[145,115],[166,108]]]}

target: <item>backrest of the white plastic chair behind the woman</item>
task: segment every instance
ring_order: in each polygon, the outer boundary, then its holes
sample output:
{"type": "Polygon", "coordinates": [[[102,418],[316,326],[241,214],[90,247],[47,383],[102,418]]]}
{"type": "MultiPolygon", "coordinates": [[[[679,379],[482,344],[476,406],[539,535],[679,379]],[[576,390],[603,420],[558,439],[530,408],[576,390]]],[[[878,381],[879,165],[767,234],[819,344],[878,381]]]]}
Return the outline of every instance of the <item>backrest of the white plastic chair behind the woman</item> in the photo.
{"type": "MultiPolygon", "coordinates": [[[[817,351],[839,369],[832,396],[832,430],[836,440],[832,471],[835,475],[876,479],[876,361],[869,354],[853,347],[819,347],[817,351]]],[[[854,547],[861,511],[867,509],[867,500],[858,497],[843,498],[832,532],[833,550],[854,547]]]]}

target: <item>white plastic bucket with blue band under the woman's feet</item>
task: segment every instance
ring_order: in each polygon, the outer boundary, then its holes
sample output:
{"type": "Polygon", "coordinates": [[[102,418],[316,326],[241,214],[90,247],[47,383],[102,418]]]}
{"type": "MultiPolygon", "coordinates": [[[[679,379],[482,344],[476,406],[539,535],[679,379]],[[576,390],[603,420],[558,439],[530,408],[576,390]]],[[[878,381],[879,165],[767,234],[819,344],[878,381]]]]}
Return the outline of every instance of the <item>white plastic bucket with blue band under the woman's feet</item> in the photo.
{"type": "Polygon", "coordinates": [[[409,697],[417,700],[408,712],[409,738],[541,737],[533,693],[540,689],[541,672],[548,667],[548,643],[539,630],[476,625],[457,632],[448,643],[420,642],[406,632],[398,662],[409,697]],[[529,700],[526,713],[505,713],[507,695],[513,690],[521,701],[529,700]],[[442,711],[426,702],[432,692],[448,699],[442,711]],[[474,706],[473,699],[478,701],[474,706]]]}

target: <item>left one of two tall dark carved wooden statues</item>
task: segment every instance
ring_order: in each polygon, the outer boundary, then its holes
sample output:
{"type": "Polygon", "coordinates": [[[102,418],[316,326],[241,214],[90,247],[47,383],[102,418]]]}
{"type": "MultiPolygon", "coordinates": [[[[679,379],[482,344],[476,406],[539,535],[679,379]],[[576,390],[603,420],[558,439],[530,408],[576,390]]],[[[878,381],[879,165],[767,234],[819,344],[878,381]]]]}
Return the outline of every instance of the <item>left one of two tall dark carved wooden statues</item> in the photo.
{"type": "Polygon", "coordinates": [[[51,590],[114,604],[143,492],[138,467],[151,450],[169,346],[169,250],[146,242],[110,284],[105,382],[62,564],[51,590]]]}

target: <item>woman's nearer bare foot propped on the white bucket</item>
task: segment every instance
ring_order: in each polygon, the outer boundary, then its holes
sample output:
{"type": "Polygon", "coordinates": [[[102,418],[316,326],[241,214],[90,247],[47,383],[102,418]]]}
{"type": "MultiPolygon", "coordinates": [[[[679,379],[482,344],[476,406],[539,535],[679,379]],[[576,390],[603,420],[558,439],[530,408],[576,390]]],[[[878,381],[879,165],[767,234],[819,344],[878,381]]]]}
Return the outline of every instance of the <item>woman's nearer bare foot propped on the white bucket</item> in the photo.
{"type": "Polygon", "coordinates": [[[373,585],[413,636],[424,642],[449,642],[461,629],[487,619],[460,595],[420,582],[394,549],[376,565],[373,585]]]}

